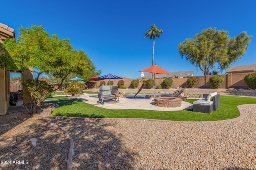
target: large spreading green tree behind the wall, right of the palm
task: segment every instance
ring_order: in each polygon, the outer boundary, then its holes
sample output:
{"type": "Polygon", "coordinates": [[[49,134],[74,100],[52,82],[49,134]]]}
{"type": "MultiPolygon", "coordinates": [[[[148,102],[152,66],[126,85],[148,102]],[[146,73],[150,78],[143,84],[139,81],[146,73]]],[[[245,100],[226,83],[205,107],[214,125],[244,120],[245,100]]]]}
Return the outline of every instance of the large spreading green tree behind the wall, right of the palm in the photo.
{"type": "Polygon", "coordinates": [[[209,75],[209,69],[218,64],[220,72],[238,61],[248,48],[251,35],[245,31],[237,37],[230,38],[228,31],[208,28],[186,39],[178,45],[178,52],[186,61],[200,68],[204,75],[209,75]]]}

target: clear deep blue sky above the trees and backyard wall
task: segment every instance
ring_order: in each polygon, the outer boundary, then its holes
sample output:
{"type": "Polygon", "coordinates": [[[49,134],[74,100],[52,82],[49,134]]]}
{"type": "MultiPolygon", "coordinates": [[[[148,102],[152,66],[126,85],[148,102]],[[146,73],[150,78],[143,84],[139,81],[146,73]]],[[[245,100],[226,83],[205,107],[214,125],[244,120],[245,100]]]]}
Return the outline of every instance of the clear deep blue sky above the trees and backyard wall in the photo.
{"type": "Polygon", "coordinates": [[[0,22],[14,28],[16,37],[21,26],[42,25],[50,35],[71,39],[101,75],[137,78],[139,70],[152,65],[153,41],[144,38],[151,24],[164,31],[155,42],[154,63],[170,72],[203,75],[180,57],[177,46],[209,27],[226,30],[230,37],[242,31],[252,35],[246,54],[232,66],[256,64],[254,0],[12,0],[1,6],[0,22]]]}

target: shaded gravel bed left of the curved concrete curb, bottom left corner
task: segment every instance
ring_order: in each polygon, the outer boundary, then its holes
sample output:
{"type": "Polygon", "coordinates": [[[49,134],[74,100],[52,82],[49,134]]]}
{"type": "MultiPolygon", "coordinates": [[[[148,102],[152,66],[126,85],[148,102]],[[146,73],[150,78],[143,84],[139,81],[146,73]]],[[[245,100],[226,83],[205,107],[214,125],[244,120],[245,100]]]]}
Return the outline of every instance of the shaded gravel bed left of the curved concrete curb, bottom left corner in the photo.
{"type": "Polygon", "coordinates": [[[0,117],[0,123],[7,121],[10,125],[0,127],[1,170],[66,169],[70,143],[63,131],[26,111],[0,117]],[[29,144],[30,138],[38,139],[36,147],[29,144]]]}

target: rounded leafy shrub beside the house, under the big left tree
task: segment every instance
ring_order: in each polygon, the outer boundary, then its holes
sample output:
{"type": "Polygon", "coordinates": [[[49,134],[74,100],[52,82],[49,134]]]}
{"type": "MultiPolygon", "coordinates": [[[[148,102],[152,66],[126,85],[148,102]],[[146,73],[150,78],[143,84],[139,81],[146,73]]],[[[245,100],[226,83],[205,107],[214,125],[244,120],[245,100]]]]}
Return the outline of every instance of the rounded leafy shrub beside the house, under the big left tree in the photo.
{"type": "Polygon", "coordinates": [[[31,114],[35,113],[36,107],[53,92],[53,86],[46,81],[31,79],[22,82],[22,85],[27,88],[26,92],[23,93],[23,98],[32,100],[30,107],[24,105],[31,114]]]}

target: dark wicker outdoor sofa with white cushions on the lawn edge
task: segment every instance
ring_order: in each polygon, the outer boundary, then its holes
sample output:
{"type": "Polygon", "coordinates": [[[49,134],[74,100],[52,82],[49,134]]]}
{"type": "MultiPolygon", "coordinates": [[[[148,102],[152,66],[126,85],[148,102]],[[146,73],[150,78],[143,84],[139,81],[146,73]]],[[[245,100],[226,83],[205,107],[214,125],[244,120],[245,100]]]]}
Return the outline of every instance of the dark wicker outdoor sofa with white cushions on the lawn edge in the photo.
{"type": "Polygon", "coordinates": [[[211,113],[220,107],[220,95],[217,92],[203,94],[203,98],[193,102],[193,111],[211,113]]]}

